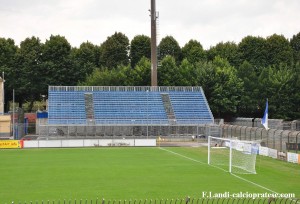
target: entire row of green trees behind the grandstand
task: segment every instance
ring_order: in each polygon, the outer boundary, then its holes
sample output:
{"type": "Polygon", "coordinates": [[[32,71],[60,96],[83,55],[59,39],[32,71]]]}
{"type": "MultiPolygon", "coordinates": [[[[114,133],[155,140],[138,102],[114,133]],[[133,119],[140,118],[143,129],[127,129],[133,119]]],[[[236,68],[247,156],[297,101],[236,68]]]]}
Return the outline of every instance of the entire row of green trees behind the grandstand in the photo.
{"type": "MultiPolygon", "coordinates": [[[[150,86],[150,38],[131,41],[120,32],[101,45],[72,47],[64,36],[38,37],[16,45],[0,38],[0,71],[5,72],[5,110],[12,90],[19,106],[41,100],[49,85],[150,86]]],[[[190,40],[180,47],[172,36],[158,45],[159,86],[202,86],[215,117],[300,118],[300,32],[291,39],[274,34],[246,36],[203,49],[190,40]]],[[[29,110],[30,111],[30,110],[29,110]]]]}

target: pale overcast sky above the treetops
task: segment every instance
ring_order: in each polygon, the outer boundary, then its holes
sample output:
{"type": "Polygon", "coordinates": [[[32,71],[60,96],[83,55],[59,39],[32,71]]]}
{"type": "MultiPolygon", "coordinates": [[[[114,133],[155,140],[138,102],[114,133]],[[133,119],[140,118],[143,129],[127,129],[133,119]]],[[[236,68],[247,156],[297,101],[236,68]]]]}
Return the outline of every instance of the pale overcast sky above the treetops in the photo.
{"type": "MultiPolygon", "coordinates": [[[[129,40],[150,37],[150,0],[0,0],[0,37],[19,45],[26,37],[45,42],[62,35],[72,46],[100,45],[116,31],[129,40]]],[[[247,35],[286,38],[300,32],[300,0],[156,0],[158,39],[171,35],[180,46],[199,41],[239,43],[247,35]]]]}

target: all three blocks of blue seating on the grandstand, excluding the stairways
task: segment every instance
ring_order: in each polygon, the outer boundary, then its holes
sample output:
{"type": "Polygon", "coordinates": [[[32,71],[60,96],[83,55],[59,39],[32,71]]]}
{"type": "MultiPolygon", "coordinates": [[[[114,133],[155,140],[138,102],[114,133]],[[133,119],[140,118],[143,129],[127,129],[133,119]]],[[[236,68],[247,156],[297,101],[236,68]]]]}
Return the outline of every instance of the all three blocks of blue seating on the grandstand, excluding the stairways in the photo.
{"type": "MultiPolygon", "coordinates": [[[[147,88],[147,87],[146,87],[147,88]]],[[[168,125],[162,93],[168,94],[176,124],[207,124],[214,119],[201,88],[145,90],[88,90],[49,88],[49,124],[87,124],[85,94],[92,94],[95,124],[168,125]]],[[[90,116],[89,116],[90,117],[90,116]]],[[[90,119],[90,118],[89,118],[90,119]]],[[[174,123],[172,123],[174,124],[174,123]]]]}

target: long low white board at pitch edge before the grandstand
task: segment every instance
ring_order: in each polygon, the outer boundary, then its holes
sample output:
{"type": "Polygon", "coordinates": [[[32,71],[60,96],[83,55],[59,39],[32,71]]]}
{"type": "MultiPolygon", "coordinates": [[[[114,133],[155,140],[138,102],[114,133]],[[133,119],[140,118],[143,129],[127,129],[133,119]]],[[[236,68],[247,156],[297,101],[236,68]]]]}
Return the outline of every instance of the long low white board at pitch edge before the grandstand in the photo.
{"type": "Polygon", "coordinates": [[[78,139],[78,140],[24,140],[24,148],[52,147],[154,147],[156,139],[78,139]]]}

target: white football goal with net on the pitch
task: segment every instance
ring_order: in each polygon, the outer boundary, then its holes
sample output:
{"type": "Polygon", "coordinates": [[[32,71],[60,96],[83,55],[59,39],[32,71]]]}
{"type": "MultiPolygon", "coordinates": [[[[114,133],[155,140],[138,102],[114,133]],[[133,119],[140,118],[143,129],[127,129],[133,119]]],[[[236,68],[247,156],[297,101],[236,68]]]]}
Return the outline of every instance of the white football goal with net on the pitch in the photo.
{"type": "Polygon", "coordinates": [[[257,141],[208,137],[208,164],[230,173],[256,174],[257,141]]]}

